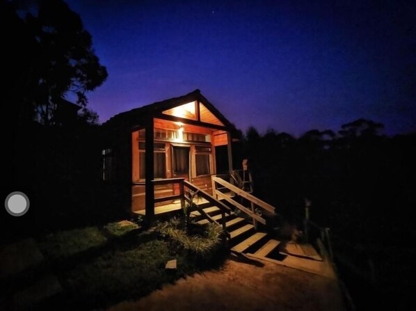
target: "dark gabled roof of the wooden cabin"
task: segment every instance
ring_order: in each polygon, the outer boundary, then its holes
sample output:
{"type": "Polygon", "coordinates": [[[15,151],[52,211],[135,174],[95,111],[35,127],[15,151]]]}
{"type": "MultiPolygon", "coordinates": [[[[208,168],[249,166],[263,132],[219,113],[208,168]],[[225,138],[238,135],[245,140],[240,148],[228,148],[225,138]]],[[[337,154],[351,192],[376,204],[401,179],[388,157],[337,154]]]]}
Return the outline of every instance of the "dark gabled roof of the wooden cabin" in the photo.
{"type": "Polygon", "coordinates": [[[142,106],[140,108],[118,113],[105,122],[104,126],[117,127],[118,125],[139,125],[139,122],[143,122],[148,118],[157,118],[162,115],[163,111],[193,101],[202,103],[211,113],[215,115],[216,118],[218,118],[218,120],[223,123],[225,129],[229,129],[231,131],[235,129],[234,125],[200,93],[200,90],[194,90],[193,92],[183,96],[166,99],[162,102],[154,102],[153,104],[142,106]]]}

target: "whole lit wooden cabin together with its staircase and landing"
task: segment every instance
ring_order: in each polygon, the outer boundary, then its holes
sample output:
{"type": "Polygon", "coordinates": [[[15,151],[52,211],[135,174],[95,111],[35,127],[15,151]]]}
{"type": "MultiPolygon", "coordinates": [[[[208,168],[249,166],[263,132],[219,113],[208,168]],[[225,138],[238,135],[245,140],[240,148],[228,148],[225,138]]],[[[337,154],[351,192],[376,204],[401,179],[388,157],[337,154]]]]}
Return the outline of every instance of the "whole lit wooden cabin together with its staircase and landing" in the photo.
{"type": "MultiPolygon", "coordinates": [[[[328,257],[322,258],[310,244],[289,244],[281,255],[280,241],[264,227],[277,215],[275,207],[253,196],[251,178],[241,184],[236,177],[234,126],[199,90],[115,115],[102,129],[102,194],[114,209],[151,220],[195,202],[192,193],[197,193],[193,221],[221,225],[233,252],[335,275],[328,257]],[[246,182],[250,189],[245,189],[246,182]]],[[[243,161],[243,176],[246,165],[243,161]]],[[[326,244],[330,247],[327,230],[326,244]]]]}

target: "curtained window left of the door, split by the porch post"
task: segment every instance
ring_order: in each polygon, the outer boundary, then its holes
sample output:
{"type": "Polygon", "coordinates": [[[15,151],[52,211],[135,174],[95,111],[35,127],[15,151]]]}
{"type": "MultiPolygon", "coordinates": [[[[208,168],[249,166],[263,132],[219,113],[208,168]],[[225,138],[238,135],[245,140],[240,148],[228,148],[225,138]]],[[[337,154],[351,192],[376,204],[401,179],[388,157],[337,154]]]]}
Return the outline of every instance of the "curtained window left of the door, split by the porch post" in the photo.
{"type": "MultiPolygon", "coordinates": [[[[138,143],[138,148],[140,163],[139,177],[141,180],[144,180],[146,177],[145,143],[138,143]]],[[[166,150],[164,143],[154,144],[153,165],[154,178],[166,178],[166,150]]]]}

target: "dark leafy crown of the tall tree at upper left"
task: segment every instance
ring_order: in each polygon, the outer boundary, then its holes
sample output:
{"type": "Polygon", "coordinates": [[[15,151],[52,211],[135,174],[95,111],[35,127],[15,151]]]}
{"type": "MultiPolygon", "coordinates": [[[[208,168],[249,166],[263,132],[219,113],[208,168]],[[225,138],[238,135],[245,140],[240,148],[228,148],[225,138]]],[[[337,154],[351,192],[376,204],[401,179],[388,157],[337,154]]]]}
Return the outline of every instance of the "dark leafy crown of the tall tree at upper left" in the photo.
{"type": "Polygon", "coordinates": [[[79,15],[65,2],[37,1],[34,13],[33,8],[17,7],[15,2],[8,6],[8,13],[14,13],[10,17],[13,26],[19,26],[19,38],[12,38],[10,43],[31,47],[26,59],[16,60],[26,63],[20,81],[15,81],[26,86],[22,105],[41,123],[53,125],[61,99],[72,93],[77,104],[85,107],[86,93],[106,80],[106,67],[100,65],[79,15]],[[22,13],[26,15],[21,17],[22,13]]]}

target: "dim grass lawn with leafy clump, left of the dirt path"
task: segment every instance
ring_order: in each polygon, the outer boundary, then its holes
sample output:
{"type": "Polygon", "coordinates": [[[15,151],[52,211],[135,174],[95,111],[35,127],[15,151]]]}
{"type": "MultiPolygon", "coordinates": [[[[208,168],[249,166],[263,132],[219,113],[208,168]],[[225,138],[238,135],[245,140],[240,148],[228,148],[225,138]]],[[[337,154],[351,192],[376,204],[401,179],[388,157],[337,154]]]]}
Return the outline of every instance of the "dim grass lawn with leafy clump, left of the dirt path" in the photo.
{"type": "Polygon", "coordinates": [[[185,275],[221,265],[225,252],[212,232],[204,241],[185,236],[178,221],[147,231],[125,222],[47,234],[38,244],[63,285],[59,307],[89,309],[140,298],[185,275]],[[211,239],[215,243],[207,242],[211,239]],[[177,260],[177,269],[166,270],[168,260],[177,260]]]}

